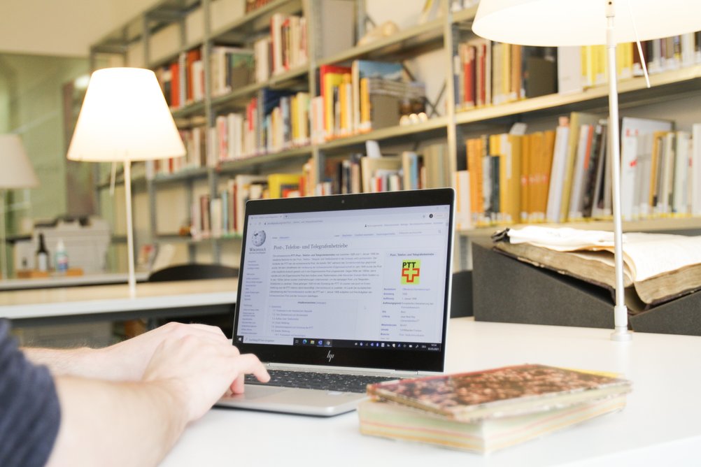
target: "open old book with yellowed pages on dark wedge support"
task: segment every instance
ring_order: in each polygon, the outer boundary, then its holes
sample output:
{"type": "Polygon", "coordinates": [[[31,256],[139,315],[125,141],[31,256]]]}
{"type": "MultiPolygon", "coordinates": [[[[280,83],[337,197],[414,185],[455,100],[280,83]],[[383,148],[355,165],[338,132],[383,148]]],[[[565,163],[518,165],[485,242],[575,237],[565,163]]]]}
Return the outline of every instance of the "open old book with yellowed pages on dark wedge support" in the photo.
{"type": "MultiPolygon", "coordinates": [[[[500,234],[498,251],[613,291],[613,232],[530,225],[500,234]]],[[[701,289],[701,236],[626,233],[623,256],[632,311],[701,289]]]]}

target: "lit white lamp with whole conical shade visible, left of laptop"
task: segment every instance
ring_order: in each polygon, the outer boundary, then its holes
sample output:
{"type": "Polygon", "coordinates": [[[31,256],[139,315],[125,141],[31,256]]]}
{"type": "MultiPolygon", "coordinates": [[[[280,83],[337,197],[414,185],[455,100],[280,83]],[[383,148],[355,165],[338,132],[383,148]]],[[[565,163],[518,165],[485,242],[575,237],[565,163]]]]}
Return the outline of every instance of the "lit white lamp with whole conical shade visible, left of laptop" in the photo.
{"type": "Polygon", "coordinates": [[[123,162],[129,293],[136,294],[131,162],[175,158],[185,147],[153,71],[106,68],[90,77],[69,160],[123,162]]]}

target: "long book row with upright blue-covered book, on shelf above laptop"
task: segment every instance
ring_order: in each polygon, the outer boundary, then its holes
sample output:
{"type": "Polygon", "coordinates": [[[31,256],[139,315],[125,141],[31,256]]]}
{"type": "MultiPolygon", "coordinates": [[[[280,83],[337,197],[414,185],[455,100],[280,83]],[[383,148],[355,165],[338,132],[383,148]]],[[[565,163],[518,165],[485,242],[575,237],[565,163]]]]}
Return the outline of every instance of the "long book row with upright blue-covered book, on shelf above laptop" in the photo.
{"type": "MultiPolygon", "coordinates": [[[[393,69],[396,76],[401,74],[400,64],[365,62],[360,67],[365,66],[386,67],[393,69]]],[[[217,116],[215,126],[209,131],[204,127],[183,130],[187,162],[184,165],[173,162],[164,167],[170,168],[170,173],[182,167],[215,167],[226,160],[278,153],[310,143],[322,144],[336,136],[397,125],[402,115],[423,110],[420,85],[379,77],[363,78],[362,83],[368,84],[358,90],[357,97],[361,99],[354,99],[351,75],[320,76],[328,85],[327,93],[322,96],[264,88],[242,112],[217,116]],[[395,84],[399,87],[392,88],[395,84]]]]}

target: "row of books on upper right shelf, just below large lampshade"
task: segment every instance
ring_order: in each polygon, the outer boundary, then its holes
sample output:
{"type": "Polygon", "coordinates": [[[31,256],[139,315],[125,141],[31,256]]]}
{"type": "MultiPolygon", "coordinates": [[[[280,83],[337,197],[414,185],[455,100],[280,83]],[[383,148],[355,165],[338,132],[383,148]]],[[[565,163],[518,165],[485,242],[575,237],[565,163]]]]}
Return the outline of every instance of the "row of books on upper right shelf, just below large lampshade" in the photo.
{"type": "MultiPolygon", "coordinates": [[[[701,32],[641,43],[650,74],[701,63],[701,32]]],[[[616,47],[619,79],[642,76],[634,43],[616,47]]],[[[458,111],[555,92],[581,92],[607,82],[605,46],[531,47],[475,38],[458,44],[454,57],[458,111]]]]}

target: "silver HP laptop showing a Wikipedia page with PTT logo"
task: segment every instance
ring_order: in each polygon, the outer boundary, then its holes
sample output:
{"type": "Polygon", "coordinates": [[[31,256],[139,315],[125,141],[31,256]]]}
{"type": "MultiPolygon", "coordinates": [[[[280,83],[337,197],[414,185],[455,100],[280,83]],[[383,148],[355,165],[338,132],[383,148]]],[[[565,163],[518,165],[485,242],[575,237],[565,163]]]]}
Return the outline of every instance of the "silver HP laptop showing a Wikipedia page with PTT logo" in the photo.
{"type": "Polygon", "coordinates": [[[453,213],[451,188],[247,202],[233,344],[275,382],[217,405],[332,416],[443,372],[453,213]]]}

